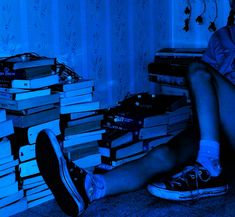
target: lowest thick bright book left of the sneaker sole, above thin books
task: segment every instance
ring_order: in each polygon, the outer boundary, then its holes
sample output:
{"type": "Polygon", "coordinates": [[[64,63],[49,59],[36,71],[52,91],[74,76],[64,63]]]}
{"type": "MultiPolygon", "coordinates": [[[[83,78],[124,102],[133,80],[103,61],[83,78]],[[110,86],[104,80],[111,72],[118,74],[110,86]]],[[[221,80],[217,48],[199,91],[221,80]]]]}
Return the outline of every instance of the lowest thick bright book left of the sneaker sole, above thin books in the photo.
{"type": "Polygon", "coordinates": [[[27,161],[19,165],[20,177],[31,176],[39,173],[39,168],[36,160],[27,161]]]}

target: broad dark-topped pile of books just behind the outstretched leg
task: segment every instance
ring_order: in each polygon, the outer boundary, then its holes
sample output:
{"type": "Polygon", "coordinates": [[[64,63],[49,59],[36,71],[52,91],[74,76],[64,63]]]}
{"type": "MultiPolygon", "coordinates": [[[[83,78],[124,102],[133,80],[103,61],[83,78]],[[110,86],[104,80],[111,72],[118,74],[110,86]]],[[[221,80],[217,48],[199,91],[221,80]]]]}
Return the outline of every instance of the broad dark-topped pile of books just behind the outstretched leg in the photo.
{"type": "Polygon", "coordinates": [[[187,127],[191,108],[184,96],[140,93],[109,109],[103,121],[107,132],[99,141],[100,168],[115,167],[144,156],[187,127]]]}

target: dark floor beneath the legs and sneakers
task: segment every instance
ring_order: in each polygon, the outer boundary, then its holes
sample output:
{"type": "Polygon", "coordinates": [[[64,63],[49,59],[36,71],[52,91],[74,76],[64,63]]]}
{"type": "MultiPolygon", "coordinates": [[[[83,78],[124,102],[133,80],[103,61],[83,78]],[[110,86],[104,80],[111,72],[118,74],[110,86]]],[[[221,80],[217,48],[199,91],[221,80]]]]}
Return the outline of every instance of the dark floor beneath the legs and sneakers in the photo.
{"type": "MultiPolygon", "coordinates": [[[[235,182],[234,182],[235,183],[235,182]]],[[[151,196],[145,189],[93,202],[82,217],[234,217],[235,184],[221,197],[194,202],[171,202],[151,196]]],[[[14,217],[66,217],[54,200],[14,217]]]]}

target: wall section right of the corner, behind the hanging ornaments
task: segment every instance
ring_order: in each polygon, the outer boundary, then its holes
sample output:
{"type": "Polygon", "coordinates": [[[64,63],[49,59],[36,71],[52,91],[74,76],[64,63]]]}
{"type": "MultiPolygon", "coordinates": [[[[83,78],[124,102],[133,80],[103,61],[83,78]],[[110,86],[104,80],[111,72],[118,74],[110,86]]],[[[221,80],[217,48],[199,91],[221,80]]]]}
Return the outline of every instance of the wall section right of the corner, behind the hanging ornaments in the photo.
{"type": "Polygon", "coordinates": [[[206,12],[204,14],[204,24],[198,25],[195,22],[196,17],[203,11],[203,0],[190,0],[192,4],[192,16],[190,22],[190,31],[183,30],[184,19],[187,17],[184,10],[187,6],[187,0],[171,0],[171,44],[172,47],[206,47],[211,32],[208,31],[209,23],[215,18],[215,2],[218,3],[218,18],[216,26],[220,28],[227,23],[229,14],[229,0],[205,0],[206,12]]]}

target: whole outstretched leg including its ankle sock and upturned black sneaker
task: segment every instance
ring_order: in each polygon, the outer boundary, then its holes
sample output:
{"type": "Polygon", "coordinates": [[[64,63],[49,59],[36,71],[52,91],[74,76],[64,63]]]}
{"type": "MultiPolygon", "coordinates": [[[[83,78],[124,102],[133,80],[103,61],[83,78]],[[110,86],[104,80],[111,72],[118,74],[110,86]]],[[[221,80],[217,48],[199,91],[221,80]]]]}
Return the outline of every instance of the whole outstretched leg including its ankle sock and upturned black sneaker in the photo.
{"type": "Polygon", "coordinates": [[[99,175],[68,162],[53,132],[43,130],[36,141],[36,159],[58,205],[68,215],[77,216],[93,200],[137,190],[154,176],[188,162],[197,151],[197,139],[195,130],[187,129],[145,157],[99,175]]]}

